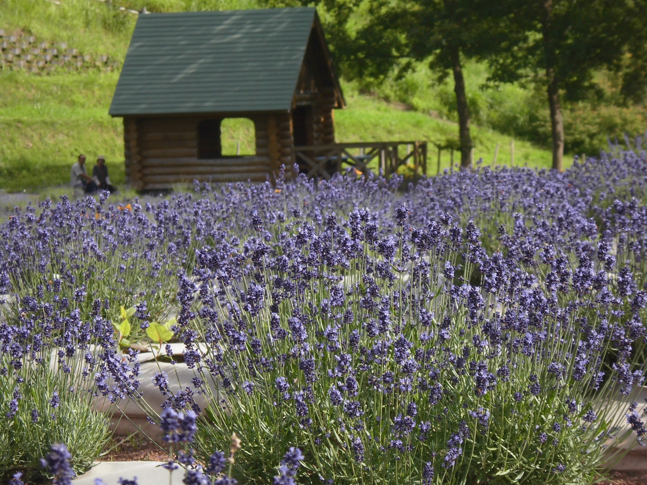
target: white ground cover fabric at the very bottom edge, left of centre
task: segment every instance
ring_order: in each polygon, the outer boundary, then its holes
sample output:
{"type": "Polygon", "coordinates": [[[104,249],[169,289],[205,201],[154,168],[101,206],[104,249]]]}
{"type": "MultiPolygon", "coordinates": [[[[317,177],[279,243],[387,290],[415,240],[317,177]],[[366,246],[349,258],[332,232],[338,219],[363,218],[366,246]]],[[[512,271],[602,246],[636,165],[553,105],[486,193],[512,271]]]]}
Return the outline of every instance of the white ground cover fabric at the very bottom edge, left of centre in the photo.
{"type": "Polygon", "coordinates": [[[181,485],[184,469],[173,470],[171,477],[162,462],[100,462],[83,475],[72,480],[74,485],[94,485],[94,480],[101,479],[105,485],[118,485],[119,479],[132,480],[137,477],[138,485],[181,485]]]}

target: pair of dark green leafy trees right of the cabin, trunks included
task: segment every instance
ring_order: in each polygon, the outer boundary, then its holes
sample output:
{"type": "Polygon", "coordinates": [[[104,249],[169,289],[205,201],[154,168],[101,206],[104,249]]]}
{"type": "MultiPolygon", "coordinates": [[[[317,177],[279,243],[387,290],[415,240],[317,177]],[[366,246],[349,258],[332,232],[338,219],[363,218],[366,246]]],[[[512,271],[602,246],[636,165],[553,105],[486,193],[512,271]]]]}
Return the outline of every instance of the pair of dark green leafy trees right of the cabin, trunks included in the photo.
{"type": "Polygon", "coordinates": [[[647,30],[641,25],[647,0],[318,0],[314,5],[326,12],[331,48],[346,78],[380,83],[394,72],[404,76],[417,61],[429,63],[436,76],[430,81],[453,74],[463,167],[470,165],[472,148],[462,74],[466,59],[487,61],[488,83],[521,81],[546,93],[556,169],[562,169],[564,155],[562,102],[600,91],[595,81],[600,69],[619,74],[627,102],[642,102],[647,95],[647,30]]]}

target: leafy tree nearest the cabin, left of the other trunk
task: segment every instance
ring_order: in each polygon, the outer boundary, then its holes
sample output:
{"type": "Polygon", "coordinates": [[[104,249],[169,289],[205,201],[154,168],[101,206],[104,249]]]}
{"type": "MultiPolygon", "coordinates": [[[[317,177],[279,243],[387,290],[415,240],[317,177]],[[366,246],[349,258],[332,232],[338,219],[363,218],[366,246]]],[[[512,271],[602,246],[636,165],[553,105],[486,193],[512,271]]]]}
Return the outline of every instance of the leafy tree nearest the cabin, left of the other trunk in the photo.
{"type": "Polygon", "coordinates": [[[437,81],[454,78],[461,168],[472,165],[470,109],[465,90],[463,63],[467,58],[493,55],[512,36],[502,35],[505,8],[500,2],[484,0],[373,1],[369,20],[353,39],[354,52],[346,69],[355,76],[376,78],[396,68],[399,74],[411,69],[413,61],[428,59],[437,81]],[[353,66],[354,65],[354,66],[353,66]]]}

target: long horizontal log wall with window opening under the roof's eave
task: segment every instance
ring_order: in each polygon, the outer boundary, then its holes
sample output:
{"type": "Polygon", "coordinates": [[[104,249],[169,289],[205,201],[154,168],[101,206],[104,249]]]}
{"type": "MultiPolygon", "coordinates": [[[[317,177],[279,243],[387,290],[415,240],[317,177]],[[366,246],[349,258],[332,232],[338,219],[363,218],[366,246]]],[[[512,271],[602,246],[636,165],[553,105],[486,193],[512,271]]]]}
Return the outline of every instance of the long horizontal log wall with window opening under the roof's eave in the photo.
{"type": "MultiPolygon", "coordinates": [[[[256,127],[255,156],[214,160],[197,158],[197,125],[207,118],[211,117],[124,118],[124,155],[129,182],[136,189],[146,190],[170,188],[196,179],[264,182],[270,178],[267,115],[250,117],[256,127]]],[[[282,148],[281,145],[279,151],[282,148]]]]}

